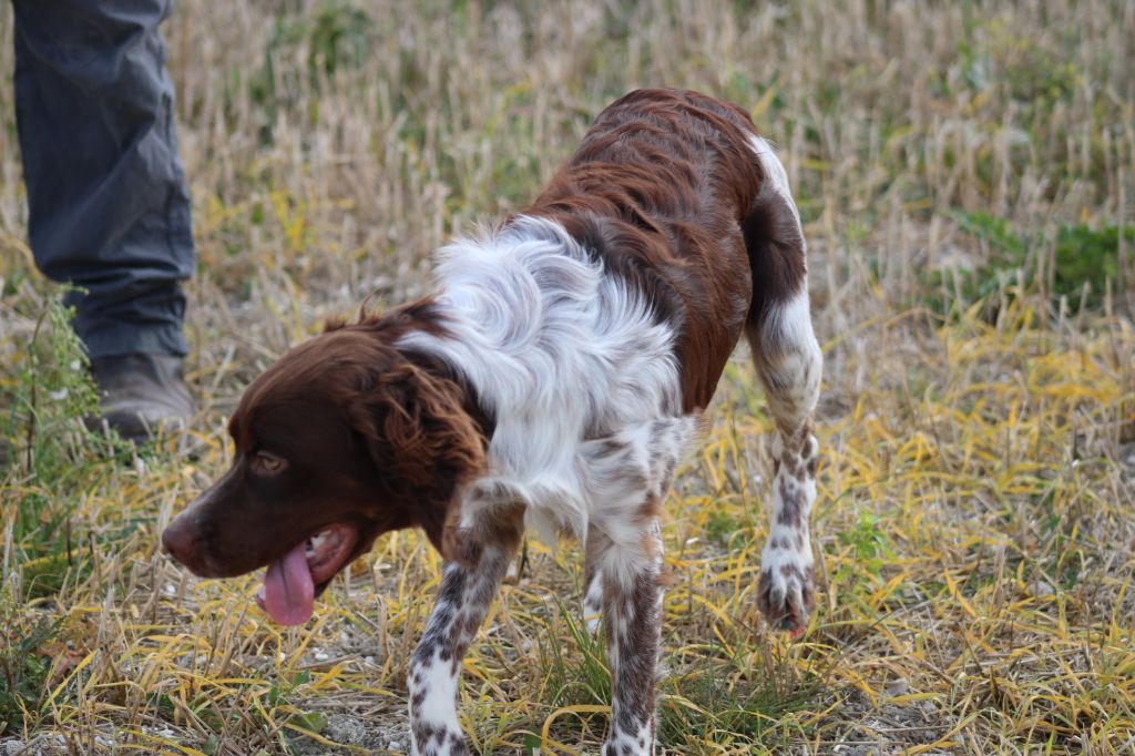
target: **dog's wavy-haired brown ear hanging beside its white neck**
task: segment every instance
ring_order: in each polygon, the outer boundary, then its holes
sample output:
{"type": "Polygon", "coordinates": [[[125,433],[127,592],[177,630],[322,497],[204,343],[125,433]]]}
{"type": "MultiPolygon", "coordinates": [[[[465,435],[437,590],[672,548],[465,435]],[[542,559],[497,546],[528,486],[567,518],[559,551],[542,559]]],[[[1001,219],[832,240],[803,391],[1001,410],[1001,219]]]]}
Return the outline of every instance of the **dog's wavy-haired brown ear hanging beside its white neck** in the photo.
{"type": "Polygon", "coordinates": [[[351,414],[390,503],[407,506],[409,519],[453,558],[461,489],[485,468],[485,440],[462,408],[461,389],[403,363],[376,376],[351,414]]]}

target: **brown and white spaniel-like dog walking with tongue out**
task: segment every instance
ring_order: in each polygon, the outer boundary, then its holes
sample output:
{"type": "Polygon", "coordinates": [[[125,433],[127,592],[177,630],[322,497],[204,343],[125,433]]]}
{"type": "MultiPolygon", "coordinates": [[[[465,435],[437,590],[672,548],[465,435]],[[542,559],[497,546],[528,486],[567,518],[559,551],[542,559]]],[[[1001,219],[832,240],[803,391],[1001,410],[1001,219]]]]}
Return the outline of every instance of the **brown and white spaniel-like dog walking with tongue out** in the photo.
{"type": "Polygon", "coordinates": [[[452,756],[470,753],[461,660],[526,528],[574,535],[613,677],[603,754],[653,754],[661,506],[742,335],[777,428],[757,604],[793,632],[814,606],[822,356],[787,173],[740,108],[634,91],[436,272],[436,294],[330,322],[254,380],[232,468],[163,545],[202,577],[267,565],[260,603],[296,624],[378,536],[420,527],[445,566],[410,730],[414,754],[452,756]]]}

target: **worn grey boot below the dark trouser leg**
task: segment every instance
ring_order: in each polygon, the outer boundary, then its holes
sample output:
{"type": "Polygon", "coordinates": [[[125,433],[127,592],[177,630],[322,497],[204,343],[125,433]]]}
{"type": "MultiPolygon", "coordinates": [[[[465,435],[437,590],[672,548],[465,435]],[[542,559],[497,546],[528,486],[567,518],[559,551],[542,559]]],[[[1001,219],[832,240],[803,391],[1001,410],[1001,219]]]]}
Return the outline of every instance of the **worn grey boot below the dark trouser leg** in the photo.
{"type": "Polygon", "coordinates": [[[127,440],[141,443],[161,432],[185,430],[193,402],[185,387],[182,358],[173,354],[117,354],[91,360],[102,418],[127,440]]]}

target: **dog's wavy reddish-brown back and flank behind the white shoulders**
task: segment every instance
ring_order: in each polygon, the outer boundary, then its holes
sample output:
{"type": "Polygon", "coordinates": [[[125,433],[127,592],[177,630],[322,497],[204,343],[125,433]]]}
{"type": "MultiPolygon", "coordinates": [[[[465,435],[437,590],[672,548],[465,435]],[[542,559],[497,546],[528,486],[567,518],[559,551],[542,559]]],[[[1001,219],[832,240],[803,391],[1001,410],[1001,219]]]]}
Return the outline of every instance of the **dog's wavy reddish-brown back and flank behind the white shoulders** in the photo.
{"type": "Polygon", "coordinates": [[[599,114],[522,213],[554,218],[674,327],[686,412],[709,403],[746,324],[804,278],[798,232],[787,253],[765,241],[796,218],[768,191],[762,148],[731,103],[637,90],[599,114]]]}

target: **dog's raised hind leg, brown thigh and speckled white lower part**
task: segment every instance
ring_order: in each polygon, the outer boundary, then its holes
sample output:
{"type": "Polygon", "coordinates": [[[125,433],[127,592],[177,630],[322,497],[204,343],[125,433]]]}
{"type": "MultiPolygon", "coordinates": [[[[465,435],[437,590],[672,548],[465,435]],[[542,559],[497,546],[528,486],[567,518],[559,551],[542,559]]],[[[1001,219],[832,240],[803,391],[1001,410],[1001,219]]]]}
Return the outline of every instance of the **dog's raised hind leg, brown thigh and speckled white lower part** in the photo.
{"type": "Polygon", "coordinates": [[[754,150],[765,185],[743,224],[754,280],[746,336],[779,434],[757,605],[772,627],[798,632],[815,605],[808,524],[818,445],[812,414],[823,356],[808,306],[804,233],[784,167],[764,140],[755,137],[754,150]]]}

